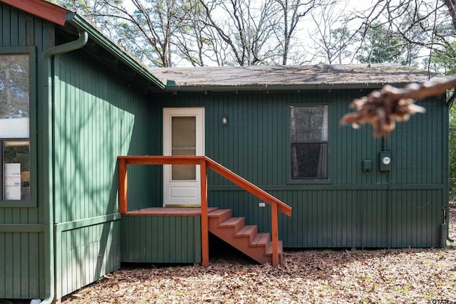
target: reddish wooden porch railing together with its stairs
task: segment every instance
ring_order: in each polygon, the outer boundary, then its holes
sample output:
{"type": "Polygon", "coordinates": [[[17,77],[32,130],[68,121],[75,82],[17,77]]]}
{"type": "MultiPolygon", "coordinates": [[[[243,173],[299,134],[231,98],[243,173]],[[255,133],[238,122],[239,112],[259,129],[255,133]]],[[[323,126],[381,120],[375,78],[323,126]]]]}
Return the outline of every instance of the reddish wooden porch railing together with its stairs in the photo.
{"type": "Polygon", "coordinates": [[[271,261],[272,266],[276,267],[281,263],[282,243],[278,240],[279,236],[279,211],[287,216],[291,216],[291,207],[271,194],[265,192],[251,182],[243,179],[239,175],[214,162],[207,156],[199,155],[128,155],[118,156],[119,167],[119,212],[128,213],[128,164],[199,164],[199,177],[201,187],[201,259],[202,266],[209,266],[209,231],[220,239],[231,244],[240,251],[251,256],[259,263],[271,261]],[[224,214],[222,211],[209,211],[207,208],[207,169],[219,174],[241,187],[250,194],[257,196],[271,206],[271,235],[258,234],[256,226],[245,226],[245,219],[233,219],[231,211],[224,214]],[[209,217],[212,212],[212,218],[209,217]],[[224,215],[222,215],[224,214],[224,215]],[[209,229],[209,219],[211,221],[209,229]],[[269,239],[272,237],[272,241],[269,239]]]}

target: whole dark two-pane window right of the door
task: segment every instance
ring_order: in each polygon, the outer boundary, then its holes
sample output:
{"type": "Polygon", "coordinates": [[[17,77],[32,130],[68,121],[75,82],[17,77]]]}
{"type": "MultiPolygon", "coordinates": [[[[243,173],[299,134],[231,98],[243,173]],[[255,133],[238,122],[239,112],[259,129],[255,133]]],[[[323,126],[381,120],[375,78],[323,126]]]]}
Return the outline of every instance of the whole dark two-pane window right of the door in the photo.
{"type": "Polygon", "coordinates": [[[328,179],[328,106],[290,111],[291,179],[328,179]]]}

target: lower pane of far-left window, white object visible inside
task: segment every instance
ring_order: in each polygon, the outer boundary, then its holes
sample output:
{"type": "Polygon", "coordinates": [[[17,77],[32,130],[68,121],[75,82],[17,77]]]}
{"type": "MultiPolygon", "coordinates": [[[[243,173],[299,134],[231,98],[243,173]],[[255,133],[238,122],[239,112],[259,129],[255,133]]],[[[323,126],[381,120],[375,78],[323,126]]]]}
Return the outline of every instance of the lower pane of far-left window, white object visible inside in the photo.
{"type": "Polygon", "coordinates": [[[3,142],[4,199],[30,199],[30,144],[28,140],[3,142]]]}

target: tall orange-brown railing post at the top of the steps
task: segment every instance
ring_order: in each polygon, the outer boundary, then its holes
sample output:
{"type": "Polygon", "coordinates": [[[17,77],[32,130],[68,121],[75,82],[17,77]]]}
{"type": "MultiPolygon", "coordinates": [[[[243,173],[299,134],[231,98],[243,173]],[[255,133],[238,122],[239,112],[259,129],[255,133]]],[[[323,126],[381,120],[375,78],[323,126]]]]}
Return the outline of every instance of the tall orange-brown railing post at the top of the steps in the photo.
{"type": "Polygon", "coordinates": [[[209,267],[209,223],[207,218],[207,170],[206,160],[199,162],[201,179],[201,251],[202,266],[209,267]]]}

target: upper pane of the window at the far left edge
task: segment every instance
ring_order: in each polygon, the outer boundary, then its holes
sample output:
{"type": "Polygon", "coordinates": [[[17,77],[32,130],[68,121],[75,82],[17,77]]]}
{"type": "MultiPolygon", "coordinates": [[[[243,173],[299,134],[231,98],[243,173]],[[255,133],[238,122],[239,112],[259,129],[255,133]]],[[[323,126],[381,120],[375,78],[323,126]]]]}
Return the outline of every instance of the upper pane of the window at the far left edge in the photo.
{"type": "Polygon", "coordinates": [[[0,54],[0,137],[29,137],[28,54],[0,54]]]}

